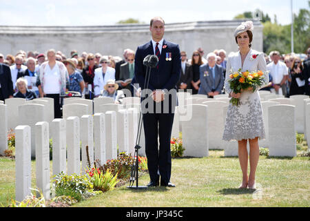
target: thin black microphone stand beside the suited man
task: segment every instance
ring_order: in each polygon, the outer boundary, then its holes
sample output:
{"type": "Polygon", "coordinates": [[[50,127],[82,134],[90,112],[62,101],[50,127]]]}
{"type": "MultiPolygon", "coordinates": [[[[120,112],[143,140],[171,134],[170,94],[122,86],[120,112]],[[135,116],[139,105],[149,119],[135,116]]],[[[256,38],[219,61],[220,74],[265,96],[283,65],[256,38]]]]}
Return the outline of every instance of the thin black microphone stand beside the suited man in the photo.
{"type": "MultiPolygon", "coordinates": [[[[147,66],[146,76],[145,76],[145,81],[144,81],[144,89],[149,87],[149,75],[151,73],[151,69],[152,68],[150,66],[147,66]]],[[[144,93],[143,97],[145,98],[146,90],[141,90],[141,93],[142,92],[144,93]]],[[[140,144],[140,138],[141,138],[141,130],[143,126],[143,113],[145,110],[145,106],[143,106],[142,108],[140,108],[138,131],[136,135],[136,146],[134,146],[134,162],[132,164],[132,171],[130,173],[130,185],[127,186],[127,188],[129,189],[147,189],[147,186],[138,185],[138,170],[139,170],[138,150],[141,148],[139,144],[140,144]],[[142,108],[143,108],[143,111],[142,111],[142,108]],[[136,186],[134,186],[134,180],[136,180],[136,186]]]]}

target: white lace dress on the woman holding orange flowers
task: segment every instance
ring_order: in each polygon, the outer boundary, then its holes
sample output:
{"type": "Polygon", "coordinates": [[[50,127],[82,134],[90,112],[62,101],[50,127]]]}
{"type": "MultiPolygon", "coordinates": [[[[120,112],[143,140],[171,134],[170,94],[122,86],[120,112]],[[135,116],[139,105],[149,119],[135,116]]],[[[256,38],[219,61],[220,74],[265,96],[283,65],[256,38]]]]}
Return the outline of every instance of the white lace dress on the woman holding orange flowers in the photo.
{"type": "MultiPolygon", "coordinates": [[[[242,71],[266,71],[267,65],[264,54],[256,50],[250,50],[243,62],[243,66],[239,51],[229,55],[225,77],[225,90],[227,93],[231,93],[228,81],[230,79],[230,70],[237,71],[239,68],[241,68],[242,71]]],[[[269,75],[265,74],[263,77],[265,77],[265,84],[262,86],[265,86],[269,82],[269,75]]],[[[242,92],[240,106],[233,106],[229,103],[223,140],[246,140],[256,137],[265,139],[262,105],[260,104],[260,95],[258,93],[259,89],[260,88],[256,89],[254,93],[251,91],[242,92]]]]}

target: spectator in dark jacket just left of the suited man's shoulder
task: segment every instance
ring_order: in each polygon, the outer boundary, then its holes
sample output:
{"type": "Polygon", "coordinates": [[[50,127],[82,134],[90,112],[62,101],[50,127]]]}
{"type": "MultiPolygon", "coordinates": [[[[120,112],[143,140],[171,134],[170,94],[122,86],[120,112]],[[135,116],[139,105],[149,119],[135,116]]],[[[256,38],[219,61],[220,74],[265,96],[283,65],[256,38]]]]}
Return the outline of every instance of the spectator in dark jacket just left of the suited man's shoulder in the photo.
{"type": "MultiPolygon", "coordinates": [[[[127,79],[134,78],[134,51],[127,50],[127,62],[125,64],[121,64],[120,73],[119,73],[119,80],[125,81],[127,79]]],[[[130,83],[123,83],[121,82],[121,89],[126,88],[130,90],[130,83]]]]}

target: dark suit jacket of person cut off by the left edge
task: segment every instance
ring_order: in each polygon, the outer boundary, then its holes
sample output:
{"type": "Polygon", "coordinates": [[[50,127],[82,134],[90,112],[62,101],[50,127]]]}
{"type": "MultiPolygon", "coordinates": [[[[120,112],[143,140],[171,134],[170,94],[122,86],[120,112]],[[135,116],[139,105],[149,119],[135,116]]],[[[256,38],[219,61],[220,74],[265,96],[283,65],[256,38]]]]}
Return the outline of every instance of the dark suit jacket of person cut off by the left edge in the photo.
{"type": "Polygon", "coordinates": [[[0,100],[13,97],[13,82],[10,67],[0,64],[0,100]]]}

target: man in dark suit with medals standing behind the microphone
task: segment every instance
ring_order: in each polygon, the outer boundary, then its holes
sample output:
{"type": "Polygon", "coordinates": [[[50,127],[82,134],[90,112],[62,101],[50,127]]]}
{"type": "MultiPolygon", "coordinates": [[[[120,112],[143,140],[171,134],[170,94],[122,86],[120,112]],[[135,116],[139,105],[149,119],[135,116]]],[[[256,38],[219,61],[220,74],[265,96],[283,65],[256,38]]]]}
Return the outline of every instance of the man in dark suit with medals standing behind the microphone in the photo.
{"type": "MultiPolygon", "coordinates": [[[[152,104],[150,106],[154,110],[145,105],[149,110],[147,113],[143,112],[145,153],[150,177],[147,186],[158,186],[161,177],[161,186],[174,187],[174,184],[170,182],[172,166],[170,139],[176,106],[176,83],[180,77],[181,69],[180,49],[177,44],[163,39],[165,21],[161,17],[154,17],[151,20],[149,30],[152,33],[152,40],[138,46],[134,62],[135,79],[143,90],[145,89],[143,87],[146,76],[143,59],[147,55],[157,55],[159,60],[157,66],[151,69],[147,87],[148,91],[152,91],[147,98],[153,99],[151,102],[154,106],[152,104]],[[168,90],[169,93],[167,93],[168,90]],[[172,99],[173,97],[174,99],[172,99]],[[166,99],[165,102],[163,102],[164,99],[166,99]],[[168,113],[163,112],[163,109],[167,111],[167,100],[169,103],[168,113]],[[161,111],[158,111],[158,108],[161,111]]],[[[141,108],[143,108],[143,103],[141,103],[141,108]]]]}

